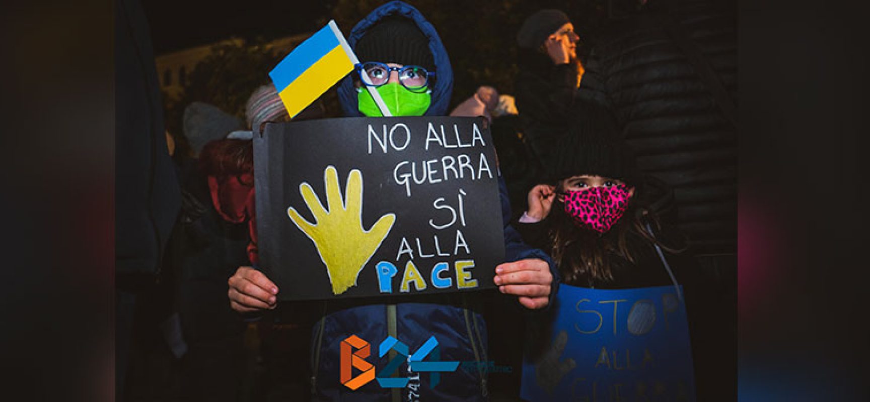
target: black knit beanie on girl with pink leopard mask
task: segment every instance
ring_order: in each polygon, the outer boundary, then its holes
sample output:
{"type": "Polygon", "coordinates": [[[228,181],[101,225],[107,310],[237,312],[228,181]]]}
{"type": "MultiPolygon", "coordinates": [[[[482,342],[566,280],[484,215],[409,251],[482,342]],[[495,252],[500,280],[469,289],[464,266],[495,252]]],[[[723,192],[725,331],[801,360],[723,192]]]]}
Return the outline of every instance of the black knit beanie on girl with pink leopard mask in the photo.
{"type": "MultiPolygon", "coordinates": [[[[586,106],[586,105],[584,105],[586,106]]],[[[599,175],[638,187],[640,173],[632,149],[620,138],[616,122],[604,108],[588,105],[554,144],[548,179],[599,175]]]]}

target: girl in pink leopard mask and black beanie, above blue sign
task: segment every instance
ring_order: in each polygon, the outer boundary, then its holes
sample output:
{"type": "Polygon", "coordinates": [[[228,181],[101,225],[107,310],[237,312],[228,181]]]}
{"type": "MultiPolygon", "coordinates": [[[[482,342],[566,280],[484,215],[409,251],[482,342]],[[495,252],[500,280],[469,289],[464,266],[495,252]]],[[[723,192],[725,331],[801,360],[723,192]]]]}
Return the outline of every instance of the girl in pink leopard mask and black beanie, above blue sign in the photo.
{"type": "Polygon", "coordinates": [[[572,124],[554,147],[550,183],[532,188],[517,228],[526,242],[552,255],[568,285],[673,284],[667,262],[683,267],[686,239],[654,210],[668,190],[639,174],[631,150],[606,127],[572,124]]]}

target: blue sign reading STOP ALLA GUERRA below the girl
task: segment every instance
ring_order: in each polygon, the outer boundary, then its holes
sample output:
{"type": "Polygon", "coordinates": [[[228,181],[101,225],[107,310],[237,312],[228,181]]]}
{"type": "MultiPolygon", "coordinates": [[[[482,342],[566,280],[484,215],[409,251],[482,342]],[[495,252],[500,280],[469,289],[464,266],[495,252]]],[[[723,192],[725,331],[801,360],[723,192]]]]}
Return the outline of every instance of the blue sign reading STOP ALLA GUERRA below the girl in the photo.
{"type": "Polygon", "coordinates": [[[560,285],[550,313],[550,325],[526,340],[523,399],[695,400],[686,305],[675,287],[560,285]]]}

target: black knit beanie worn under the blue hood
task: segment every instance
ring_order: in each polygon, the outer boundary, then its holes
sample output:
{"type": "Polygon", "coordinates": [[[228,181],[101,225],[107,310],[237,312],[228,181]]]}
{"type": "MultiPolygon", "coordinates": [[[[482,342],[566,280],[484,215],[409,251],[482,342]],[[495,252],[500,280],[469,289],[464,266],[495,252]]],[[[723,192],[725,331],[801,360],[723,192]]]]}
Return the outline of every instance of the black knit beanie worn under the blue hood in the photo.
{"type": "Polygon", "coordinates": [[[435,70],[429,39],[404,16],[385,16],[359,38],[354,51],[361,63],[397,63],[435,70]]]}

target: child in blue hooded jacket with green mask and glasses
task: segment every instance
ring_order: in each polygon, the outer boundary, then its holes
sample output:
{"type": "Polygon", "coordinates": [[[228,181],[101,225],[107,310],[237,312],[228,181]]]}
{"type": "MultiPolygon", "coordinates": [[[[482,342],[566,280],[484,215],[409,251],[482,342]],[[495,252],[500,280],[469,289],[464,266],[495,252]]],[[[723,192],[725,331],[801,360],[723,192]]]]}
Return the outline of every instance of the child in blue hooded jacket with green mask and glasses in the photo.
{"type": "MultiPolygon", "coordinates": [[[[418,10],[402,2],[373,10],[347,38],[360,65],[338,88],[345,115],[380,116],[365,85],[376,87],[393,115],[446,115],[453,77],[450,60],[438,33],[418,10]]],[[[501,293],[516,297],[526,309],[549,304],[558,283],[552,260],[526,246],[508,225],[510,205],[499,177],[506,262],[496,267],[494,281],[501,293]]],[[[231,306],[249,313],[277,306],[278,287],[263,273],[239,267],[229,281],[231,306]]],[[[311,337],[311,388],[316,400],[487,400],[486,326],[478,309],[479,294],[435,294],[404,299],[336,300],[318,302],[320,319],[311,337]],[[416,351],[430,336],[438,339],[440,360],[477,361],[478,369],[459,367],[440,374],[437,386],[423,375],[408,386],[389,389],[371,381],[356,390],[339,382],[339,345],[351,335],[380,341],[387,335],[416,351]]],[[[287,303],[284,308],[294,308],[287,303]]],[[[306,305],[307,306],[307,305],[306,305]]],[[[372,346],[377,349],[377,346],[372,346]]],[[[388,359],[376,360],[378,372],[388,359]]],[[[398,376],[409,376],[407,364],[398,376]]],[[[411,377],[411,376],[409,376],[411,377]]]]}

